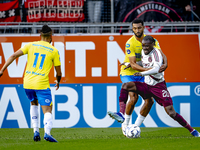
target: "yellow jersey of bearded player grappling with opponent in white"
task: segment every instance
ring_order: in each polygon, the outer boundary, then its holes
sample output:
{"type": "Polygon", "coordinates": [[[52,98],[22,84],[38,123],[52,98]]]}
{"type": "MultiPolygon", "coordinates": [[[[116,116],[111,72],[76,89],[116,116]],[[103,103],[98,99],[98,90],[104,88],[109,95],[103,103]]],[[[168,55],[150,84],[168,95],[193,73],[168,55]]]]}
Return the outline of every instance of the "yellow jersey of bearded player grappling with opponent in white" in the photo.
{"type": "MultiPolygon", "coordinates": [[[[144,35],[146,36],[146,35],[144,35]]],[[[155,47],[157,49],[160,49],[159,43],[158,41],[155,39],[155,47]]],[[[135,35],[133,35],[127,42],[126,42],[126,52],[125,52],[125,59],[124,62],[128,62],[129,61],[129,57],[135,56],[136,57],[136,62],[141,61],[141,52],[142,52],[142,43],[140,41],[138,41],[135,38],[135,35]]],[[[121,66],[121,71],[120,71],[120,75],[124,76],[124,75],[133,75],[136,72],[139,72],[137,70],[132,69],[131,67],[127,68],[124,70],[126,66],[122,65],[121,66]]]]}

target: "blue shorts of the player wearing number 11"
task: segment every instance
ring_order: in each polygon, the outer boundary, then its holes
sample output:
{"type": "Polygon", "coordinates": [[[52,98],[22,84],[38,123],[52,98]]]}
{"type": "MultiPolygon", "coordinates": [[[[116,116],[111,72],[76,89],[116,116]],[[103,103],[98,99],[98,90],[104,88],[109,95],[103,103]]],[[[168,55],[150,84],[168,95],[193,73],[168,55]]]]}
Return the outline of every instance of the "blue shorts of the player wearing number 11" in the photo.
{"type": "Polygon", "coordinates": [[[41,106],[51,106],[52,105],[52,96],[51,90],[32,90],[32,89],[25,89],[26,95],[28,99],[32,102],[34,100],[38,100],[38,103],[41,106]]]}

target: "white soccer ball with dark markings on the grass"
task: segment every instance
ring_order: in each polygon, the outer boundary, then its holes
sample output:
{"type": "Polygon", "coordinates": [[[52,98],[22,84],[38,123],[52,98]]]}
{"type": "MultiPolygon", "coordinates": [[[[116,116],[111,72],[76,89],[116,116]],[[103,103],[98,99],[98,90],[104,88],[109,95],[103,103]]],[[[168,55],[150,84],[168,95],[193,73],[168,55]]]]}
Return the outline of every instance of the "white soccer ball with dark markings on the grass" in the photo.
{"type": "Polygon", "coordinates": [[[141,130],[137,125],[131,124],[126,127],[125,133],[127,138],[138,138],[140,137],[141,130]]]}

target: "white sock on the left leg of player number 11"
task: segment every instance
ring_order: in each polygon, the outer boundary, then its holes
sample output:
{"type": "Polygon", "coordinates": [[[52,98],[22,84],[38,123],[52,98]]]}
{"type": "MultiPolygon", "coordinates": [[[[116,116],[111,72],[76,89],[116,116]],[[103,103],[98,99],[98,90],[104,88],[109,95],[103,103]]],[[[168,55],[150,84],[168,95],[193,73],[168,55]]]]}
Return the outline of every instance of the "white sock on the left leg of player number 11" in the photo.
{"type": "Polygon", "coordinates": [[[37,105],[31,105],[30,114],[31,114],[31,122],[32,122],[32,125],[33,125],[33,132],[35,132],[35,131],[39,132],[38,106],[37,105]]]}

